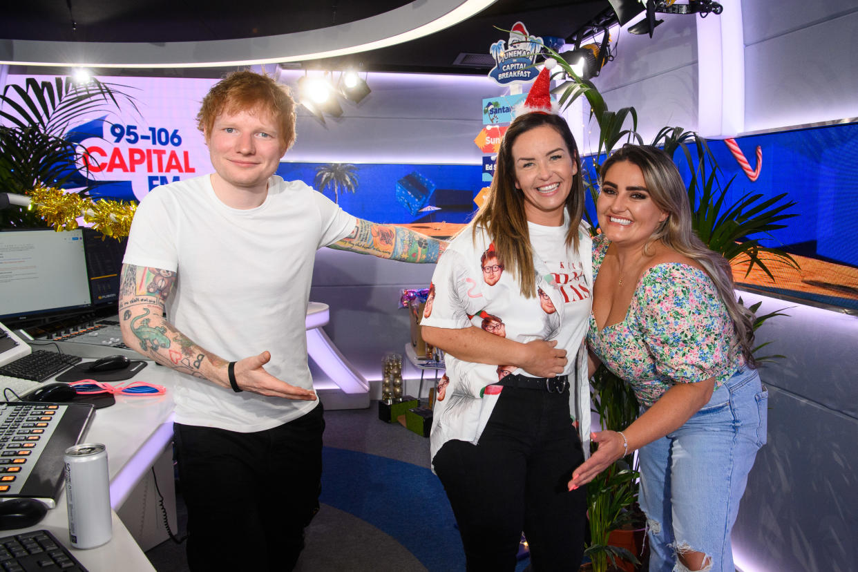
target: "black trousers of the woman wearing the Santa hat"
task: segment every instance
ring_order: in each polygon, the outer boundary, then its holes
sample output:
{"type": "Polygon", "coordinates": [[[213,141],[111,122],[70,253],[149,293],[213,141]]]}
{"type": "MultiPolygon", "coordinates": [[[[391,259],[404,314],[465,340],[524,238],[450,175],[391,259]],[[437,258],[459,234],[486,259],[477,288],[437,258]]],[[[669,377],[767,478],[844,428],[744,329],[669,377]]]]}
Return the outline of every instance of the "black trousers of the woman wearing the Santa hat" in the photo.
{"type": "Polygon", "coordinates": [[[568,491],[583,462],[569,393],[506,387],[480,443],[444,443],[435,472],[462,535],[468,572],[516,568],[521,533],[535,572],[580,567],[586,491],[568,491]]]}

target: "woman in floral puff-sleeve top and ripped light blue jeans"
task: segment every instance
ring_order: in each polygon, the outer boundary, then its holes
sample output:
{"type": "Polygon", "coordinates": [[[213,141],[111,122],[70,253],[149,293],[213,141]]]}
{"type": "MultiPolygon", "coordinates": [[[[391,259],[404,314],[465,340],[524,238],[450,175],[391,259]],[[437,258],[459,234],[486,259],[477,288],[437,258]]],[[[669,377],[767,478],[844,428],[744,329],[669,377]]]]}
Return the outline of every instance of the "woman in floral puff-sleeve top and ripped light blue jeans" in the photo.
{"type": "Polygon", "coordinates": [[[588,342],[634,388],[642,413],[593,435],[571,489],[638,449],[650,571],[734,572],[730,530],[765,443],[752,316],[724,258],[692,231],[688,195],[662,150],[626,145],[601,167],[588,342]]]}

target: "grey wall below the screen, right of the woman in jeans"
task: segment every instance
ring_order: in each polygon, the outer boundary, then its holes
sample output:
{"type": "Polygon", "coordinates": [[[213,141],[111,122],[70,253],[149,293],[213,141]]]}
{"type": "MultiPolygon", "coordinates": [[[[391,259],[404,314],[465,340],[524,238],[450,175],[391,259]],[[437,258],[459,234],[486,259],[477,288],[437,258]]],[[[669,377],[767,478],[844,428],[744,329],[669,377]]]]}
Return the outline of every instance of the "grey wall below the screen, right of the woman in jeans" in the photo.
{"type": "Polygon", "coordinates": [[[748,478],[733,532],[743,572],[848,572],[858,547],[858,316],[741,292],[761,312],[768,444],[748,478]]]}

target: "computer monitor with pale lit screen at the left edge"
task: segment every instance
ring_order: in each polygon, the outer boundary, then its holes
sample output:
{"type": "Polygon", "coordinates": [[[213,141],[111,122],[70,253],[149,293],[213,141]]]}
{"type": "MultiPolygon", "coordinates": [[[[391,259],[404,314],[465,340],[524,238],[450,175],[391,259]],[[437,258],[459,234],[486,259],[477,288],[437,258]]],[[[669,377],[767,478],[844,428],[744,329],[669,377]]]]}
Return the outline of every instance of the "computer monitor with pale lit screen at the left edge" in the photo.
{"type": "Polygon", "coordinates": [[[7,326],[91,304],[82,229],[0,232],[0,322],[7,326]]]}

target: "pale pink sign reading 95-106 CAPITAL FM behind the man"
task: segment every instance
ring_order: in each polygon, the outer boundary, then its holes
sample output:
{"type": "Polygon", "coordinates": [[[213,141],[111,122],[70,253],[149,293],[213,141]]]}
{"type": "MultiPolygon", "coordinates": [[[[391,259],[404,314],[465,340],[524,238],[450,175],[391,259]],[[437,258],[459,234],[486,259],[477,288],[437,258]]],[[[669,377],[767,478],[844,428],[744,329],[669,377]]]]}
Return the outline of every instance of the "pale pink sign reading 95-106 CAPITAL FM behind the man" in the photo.
{"type": "MultiPolygon", "coordinates": [[[[23,86],[27,77],[52,81],[53,76],[9,75],[8,83],[23,86]]],[[[196,177],[210,170],[208,148],[196,128],[202,97],[212,79],[99,77],[116,84],[134,99],[119,101],[109,115],[82,117],[67,129],[66,139],[87,150],[74,166],[64,188],[91,187],[93,198],[139,201],[161,184],[196,177]],[[136,110],[134,107],[136,106],[136,110]]]]}

